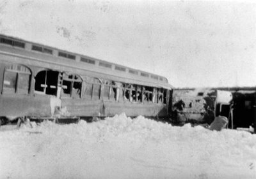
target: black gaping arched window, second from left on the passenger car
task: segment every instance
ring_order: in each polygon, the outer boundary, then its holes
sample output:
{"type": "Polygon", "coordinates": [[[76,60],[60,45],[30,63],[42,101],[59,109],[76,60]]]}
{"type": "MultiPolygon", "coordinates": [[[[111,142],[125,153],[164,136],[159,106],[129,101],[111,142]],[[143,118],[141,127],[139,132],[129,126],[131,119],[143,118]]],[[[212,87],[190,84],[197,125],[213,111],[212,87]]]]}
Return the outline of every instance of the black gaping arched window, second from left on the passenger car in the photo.
{"type": "Polygon", "coordinates": [[[40,71],[35,76],[35,93],[56,96],[58,87],[58,71],[40,71]]]}

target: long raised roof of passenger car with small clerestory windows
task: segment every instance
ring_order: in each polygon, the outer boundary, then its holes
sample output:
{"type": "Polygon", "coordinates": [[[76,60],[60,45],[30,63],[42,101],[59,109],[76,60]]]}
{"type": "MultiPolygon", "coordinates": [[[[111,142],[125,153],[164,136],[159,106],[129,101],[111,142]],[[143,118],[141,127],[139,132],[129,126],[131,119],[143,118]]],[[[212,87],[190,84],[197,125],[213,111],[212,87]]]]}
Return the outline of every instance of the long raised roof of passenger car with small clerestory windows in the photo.
{"type": "Polygon", "coordinates": [[[131,78],[144,83],[154,83],[154,86],[173,89],[172,85],[168,83],[167,78],[164,76],[155,75],[138,69],[127,68],[119,64],[102,61],[87,55],[68,52],[66,50],[33,43],[24,39],[5,36],[4,34],[0,34],[0,45],[3,45],[1,50],[4,52],[25,55],[35,59],[47,59],[49,61],[54,59],[55,62],[59,62],[61,65],[64,63],[67,63],[67,65],[72,64],[74,68],[77,66],[86,70],[104,73],[106,75],[131,78]],[[13,48],[10,49],[11,46],[13,48]]]}

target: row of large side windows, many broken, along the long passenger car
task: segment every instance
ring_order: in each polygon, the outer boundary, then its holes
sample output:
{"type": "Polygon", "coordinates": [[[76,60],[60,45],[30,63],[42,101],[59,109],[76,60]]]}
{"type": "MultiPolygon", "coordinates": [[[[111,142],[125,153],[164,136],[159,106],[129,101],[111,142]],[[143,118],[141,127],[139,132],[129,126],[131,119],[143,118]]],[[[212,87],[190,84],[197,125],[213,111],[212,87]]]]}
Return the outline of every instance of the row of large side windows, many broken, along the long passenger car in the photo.
{"type": "MultiPolygon", "coordinates": [[[[31,70],[15,64],[4,69],[3,93],[28,94],[31,70]]],[[[105,99],[148,103],[167,103],[167,90],[134,85],[130,83],[100,80],[59,71],[40,71],[35,76],[35,94],[48,94],[58,97],[105,99]]]]}

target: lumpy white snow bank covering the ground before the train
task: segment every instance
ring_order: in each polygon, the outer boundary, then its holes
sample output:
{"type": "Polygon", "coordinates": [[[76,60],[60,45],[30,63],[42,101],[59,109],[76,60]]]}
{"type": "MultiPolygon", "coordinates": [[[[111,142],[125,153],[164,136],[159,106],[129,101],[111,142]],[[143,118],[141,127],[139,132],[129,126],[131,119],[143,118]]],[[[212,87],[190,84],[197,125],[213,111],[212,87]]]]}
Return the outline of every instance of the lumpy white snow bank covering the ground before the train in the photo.
{"type": "Polygon", "coordinates": [[[256,136],[125,114],[0,131],[0,178],[256,178],[256,136]]]}

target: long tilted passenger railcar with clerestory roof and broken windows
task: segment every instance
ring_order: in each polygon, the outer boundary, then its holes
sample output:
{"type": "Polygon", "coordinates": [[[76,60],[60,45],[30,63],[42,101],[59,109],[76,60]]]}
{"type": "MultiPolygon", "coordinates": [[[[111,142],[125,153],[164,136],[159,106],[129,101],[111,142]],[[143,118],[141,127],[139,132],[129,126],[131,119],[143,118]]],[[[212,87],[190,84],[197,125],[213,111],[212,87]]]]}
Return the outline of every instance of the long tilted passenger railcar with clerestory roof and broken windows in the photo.
{"type": "Polygon", "coordinates": [[[163,76],[0,35],[0,117],[168,117],[163,76]]]}

